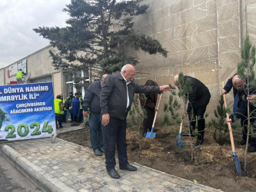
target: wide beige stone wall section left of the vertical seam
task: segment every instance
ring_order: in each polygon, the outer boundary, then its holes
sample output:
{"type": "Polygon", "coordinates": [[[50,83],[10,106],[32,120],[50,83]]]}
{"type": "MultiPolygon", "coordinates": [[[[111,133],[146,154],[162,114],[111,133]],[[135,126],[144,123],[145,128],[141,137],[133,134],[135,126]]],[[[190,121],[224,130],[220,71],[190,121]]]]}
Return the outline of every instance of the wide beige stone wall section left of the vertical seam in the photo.
{"type": "MultiPolygon", "coordinates": [[[[218,21],[215,0],[145,0],[148,12],[135,18],[135,30],[158,39],[169,53],[148,55],[135,51],[139,58],[136,66],[136,81],[145,84],[148,79],[158,84],[173,84],[172,77],[183,72],[198,78],[209,88],[211,102],[208,113],[213,113],[217,104],[219,89],[218,68],[218,21]],[[146,73],[146,74],[140,74],[146,73]]],[[[163,95],[162,106],[168,102],[163,95]]],[[[160,112],[160,118],[163,116],[160,112]]]]}

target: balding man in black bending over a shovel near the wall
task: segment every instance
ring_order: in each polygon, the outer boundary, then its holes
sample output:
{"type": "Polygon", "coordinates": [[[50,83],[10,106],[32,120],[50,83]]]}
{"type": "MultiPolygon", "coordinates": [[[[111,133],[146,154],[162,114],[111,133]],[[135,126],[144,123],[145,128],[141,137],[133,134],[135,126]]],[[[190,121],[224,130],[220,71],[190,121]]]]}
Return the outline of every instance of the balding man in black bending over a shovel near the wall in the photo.
{"type": "Polygon", "coordinates": [[[211,94],[208,88],[196,78],[185,75],[183,83],[178,84],[178,75],[175,75],[173,81],[178,88],[181,88],[187,79],[191,83],[191,91],[188,93],[187,114],[190,122],[191,135],[195,129],[196,121],[198,121],[198,140],[194,144],[195,146],[198,146],[200,144],[203,144],[204,141],[204,113],[210,101],[211,94]]]}

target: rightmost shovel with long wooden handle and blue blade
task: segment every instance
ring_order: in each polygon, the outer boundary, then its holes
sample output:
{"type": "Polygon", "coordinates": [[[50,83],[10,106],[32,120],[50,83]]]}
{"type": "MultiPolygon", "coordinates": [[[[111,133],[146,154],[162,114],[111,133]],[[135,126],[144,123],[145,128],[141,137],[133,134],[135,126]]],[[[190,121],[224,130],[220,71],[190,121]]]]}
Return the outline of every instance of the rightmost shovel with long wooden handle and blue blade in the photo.
{"type": "MultiPolygon", "coordinates": [[[[224,88],[224,82],[223,81],[222,81],[222,88],[224,88]]],[[[226,94],[223,94],[223,101],[224,101],[224,107],[227,108],[226,94]]],[[[228,113],[226,113],[226,116],[227,116],[227,119],[229,119],[229,114],[228,113]]],[[[239,161],[238,155],[235,153],[234,138],[233,138],[232,127],[231,127],[230,122],[228,122],[228,131],[229,131],[229,135],[230,135],[232,154],[233,154],[233,157],[234,157],[234,164],[235,164],[235,167],[238,171],[238,175],[241,176],[240,161],[239,161]]]]}

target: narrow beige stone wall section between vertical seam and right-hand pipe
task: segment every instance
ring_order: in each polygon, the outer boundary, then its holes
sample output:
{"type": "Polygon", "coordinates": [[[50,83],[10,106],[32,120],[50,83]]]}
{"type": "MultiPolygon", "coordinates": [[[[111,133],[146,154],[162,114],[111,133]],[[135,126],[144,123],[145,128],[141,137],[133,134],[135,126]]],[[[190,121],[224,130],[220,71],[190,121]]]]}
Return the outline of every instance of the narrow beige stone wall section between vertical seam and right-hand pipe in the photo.
{"type": "MultiPolygon", "coordinates": [[[[237,72],[241,61],[241,6],[238,0],[217,0],[218,69],[221,81],[228,81],[237,72]]],[[[228,106],[233,106],[233,94],[227,94],[228,106]]]]}

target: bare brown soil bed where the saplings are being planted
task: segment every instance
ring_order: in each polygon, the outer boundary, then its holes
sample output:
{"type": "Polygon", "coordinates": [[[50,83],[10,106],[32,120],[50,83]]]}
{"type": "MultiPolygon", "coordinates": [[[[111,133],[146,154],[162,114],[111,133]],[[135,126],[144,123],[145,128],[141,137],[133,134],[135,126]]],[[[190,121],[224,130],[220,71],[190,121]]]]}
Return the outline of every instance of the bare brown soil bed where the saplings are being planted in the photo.
{"type": "MultiPolygon", "coordinates": [[[[137,162],[219,190],[256,191],[256,153],[248,154],[247,170],[244,170],[245,146],[238,144],[241,140],[241,131],[233,132],[242,170],[242,177],[238,177],[231,144],[220,145],[214,141],[214,128],[205,129],[204,144],[194,149],[194,161],[191,161],[190,137],[181,137],[185,147],[180,149],[175,141],[179,128],[177,125],[155,127],[155,138],[147,139],[142,136],[138,139],[138,131],[127,129],[129,162],[137,162]]],[[[59,134],[58,137],[91,148],[88,127],[59,134]]],[[[194,144],[196,137],[191,139],[194,144]]]]}

